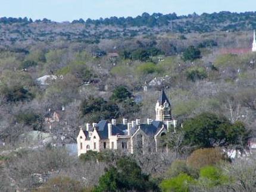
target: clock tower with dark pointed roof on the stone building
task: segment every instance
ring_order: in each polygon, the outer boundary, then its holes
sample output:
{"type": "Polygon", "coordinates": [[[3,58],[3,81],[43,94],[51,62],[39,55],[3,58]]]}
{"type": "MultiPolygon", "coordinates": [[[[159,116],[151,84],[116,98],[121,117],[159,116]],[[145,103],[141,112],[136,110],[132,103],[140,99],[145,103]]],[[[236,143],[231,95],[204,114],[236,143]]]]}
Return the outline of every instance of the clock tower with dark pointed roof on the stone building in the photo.
{"type": "Polygon", "coordinates": [[[157,105],[155,105],[155,121],[166,120],[171,120],[171,103],[164,89],[162,89],[161,95],[157,100],[157,105]]]}

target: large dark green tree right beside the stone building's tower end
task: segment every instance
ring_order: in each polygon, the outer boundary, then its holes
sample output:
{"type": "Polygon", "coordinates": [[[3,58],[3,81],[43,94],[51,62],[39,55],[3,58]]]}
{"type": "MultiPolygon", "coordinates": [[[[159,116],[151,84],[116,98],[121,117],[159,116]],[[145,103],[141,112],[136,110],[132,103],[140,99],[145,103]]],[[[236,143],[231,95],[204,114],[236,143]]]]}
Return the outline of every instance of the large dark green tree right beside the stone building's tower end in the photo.
{"type": "Polygon", "coordinates": [[[183,124],[185,143],[198,147],[246,144],[248,133],[242,122],[231,124],[224,117],[203,113],[183,124]]]}

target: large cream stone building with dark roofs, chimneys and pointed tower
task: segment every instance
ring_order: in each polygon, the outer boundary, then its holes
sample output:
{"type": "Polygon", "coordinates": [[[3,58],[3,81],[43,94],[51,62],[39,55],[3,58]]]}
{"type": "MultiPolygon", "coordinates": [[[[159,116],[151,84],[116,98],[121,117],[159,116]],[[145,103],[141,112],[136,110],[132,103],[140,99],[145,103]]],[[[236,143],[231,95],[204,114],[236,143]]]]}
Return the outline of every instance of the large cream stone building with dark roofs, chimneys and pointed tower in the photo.
{"type": "Polygon", "coordinates": [[[175,131],[177,121],[171,117],[171,103],[162,90],[155,106],[155,120],[148,118],[145,124],[140,119],[117,124],[115,119],[86,124],[77,137],[78,156],[89,150],[100,152],[104,149],[123,150],[129,153],[145,153],[167,150],[161,144],[161,137],[168,131],[175,131]]]}

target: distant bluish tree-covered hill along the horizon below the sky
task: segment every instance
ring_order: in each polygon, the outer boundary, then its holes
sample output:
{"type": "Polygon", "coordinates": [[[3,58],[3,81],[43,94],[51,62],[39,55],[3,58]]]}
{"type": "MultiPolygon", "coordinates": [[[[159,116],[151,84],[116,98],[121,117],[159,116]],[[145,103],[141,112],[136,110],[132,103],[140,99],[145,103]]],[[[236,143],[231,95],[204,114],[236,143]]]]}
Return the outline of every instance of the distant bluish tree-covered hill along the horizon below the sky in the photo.
{"type": "Polygon", "coordinates": [[[71,40],[97,43],[99,39],[130,38],[162,33],[238,32],[256,29],[256,12],[213,14],[143,13],[132,18],[100,18],[57,23],[48,19],[0,18],[0,43],[71,40]]]}

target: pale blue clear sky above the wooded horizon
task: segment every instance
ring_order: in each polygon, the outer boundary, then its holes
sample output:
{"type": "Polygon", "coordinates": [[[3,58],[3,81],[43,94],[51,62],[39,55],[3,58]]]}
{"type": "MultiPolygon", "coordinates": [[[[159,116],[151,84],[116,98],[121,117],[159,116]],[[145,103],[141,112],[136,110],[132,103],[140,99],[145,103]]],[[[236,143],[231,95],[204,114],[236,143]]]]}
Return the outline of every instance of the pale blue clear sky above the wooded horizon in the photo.
{"type": "Polygon", "coordinates": [[[187,15],[193,12],[256,11],[256,0],[0,0],[0,3],[0,17],[53,21],[136,17],[143,12],[187,15]]]}

